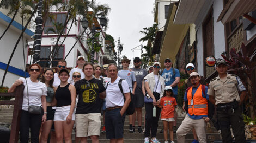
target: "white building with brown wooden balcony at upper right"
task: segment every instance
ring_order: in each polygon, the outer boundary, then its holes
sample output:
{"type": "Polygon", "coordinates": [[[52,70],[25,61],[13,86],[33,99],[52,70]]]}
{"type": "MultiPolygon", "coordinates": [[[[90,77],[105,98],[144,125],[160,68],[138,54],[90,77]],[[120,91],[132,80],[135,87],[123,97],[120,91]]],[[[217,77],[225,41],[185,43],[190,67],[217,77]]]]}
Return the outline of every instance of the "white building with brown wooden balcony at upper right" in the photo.
{"type": "Polygon", "coordinates": [[[214,67],[205,66],[205,57],[229,55],[230,48],[240,51],[242,43],[247,48],[256,43],[256,27],[242,15],[250,12],[255,15],[255,1],[181,0],[176,11],[174,24],[194,23],[196,25],[197,70],[206,81],[217,76],[214,67]],[[220,21],[221,20],[221,21],[220,21]]]}

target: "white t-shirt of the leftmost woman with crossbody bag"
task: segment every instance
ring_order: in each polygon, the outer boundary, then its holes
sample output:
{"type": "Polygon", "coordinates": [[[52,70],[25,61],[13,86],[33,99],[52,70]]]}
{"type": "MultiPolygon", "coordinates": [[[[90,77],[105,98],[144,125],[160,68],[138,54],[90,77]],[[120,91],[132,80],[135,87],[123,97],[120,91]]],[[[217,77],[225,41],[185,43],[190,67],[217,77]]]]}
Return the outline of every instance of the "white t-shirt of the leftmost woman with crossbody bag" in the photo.
{"type": "Polygon", "coordinates": [[[23,81],[23,85],[25,86],[23,91],[24,96],[23,96],[22,110],[28,111],[28,97],[29,97],[29,106],[31,105],[42,106],[41,96],[47,96],[47,86],[45,85],[45,83],[42,83],[40,81],[32,82],[29,77],[26,79],[27,79],[28,88],[27,88],[25,78],[23,77],[19,78],[19,80],[23,81]]]}

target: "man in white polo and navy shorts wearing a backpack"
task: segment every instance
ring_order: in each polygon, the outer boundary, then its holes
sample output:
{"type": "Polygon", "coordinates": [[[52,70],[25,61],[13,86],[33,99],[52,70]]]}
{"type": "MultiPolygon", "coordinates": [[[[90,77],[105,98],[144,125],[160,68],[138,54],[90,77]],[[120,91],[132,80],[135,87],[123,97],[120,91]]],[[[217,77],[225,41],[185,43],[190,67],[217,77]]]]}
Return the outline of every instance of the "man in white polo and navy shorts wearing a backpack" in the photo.
{"type": "Polygon", "coordinates": [[[130,87],[128,83],[123,80],[121,87],[123,93],[118,86],[118,67],[116,64],[108,65],[108,75],[111,81],[106,86],[106,113],[105,113],[105,128],[107,139],[112,143],[124,142],[124,121],[125,111],[131,101],[130,87]],[[125,97],[125,98],[124,98],[125,97]]]}

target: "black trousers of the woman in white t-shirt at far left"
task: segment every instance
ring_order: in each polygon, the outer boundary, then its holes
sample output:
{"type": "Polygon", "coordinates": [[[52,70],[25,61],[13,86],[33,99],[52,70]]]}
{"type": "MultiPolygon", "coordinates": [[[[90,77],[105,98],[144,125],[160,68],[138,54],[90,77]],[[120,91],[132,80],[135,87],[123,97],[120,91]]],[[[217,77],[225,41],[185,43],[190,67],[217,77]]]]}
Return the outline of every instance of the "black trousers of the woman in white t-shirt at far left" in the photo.
{"type": "Polygon", "coordinates": [[[28,111],[21,111],[21,121],[20,121],[20,141],[21,143],[28,142],[29,129],[31,130],[31,142],[39,142],[39,131],[42,122],[41,114],[31,114],[28,111]]]}

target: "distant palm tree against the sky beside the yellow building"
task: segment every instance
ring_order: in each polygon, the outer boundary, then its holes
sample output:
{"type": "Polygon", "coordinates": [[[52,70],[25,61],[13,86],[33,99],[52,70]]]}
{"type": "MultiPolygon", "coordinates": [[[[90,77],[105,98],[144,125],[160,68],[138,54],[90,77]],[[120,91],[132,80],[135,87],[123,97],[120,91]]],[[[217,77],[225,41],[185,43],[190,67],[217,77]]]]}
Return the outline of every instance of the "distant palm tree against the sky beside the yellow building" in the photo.
{"type": "Polygon", "coordinates": [[[155,41],[156,32],[157,32],[157,24],[153,24],[152,27],[146,27],[143,28],[144,31],[139,31],[140,33],[144,34],[145,36],[139,39],[139,41],[148,41],[147,46],[144,46],[143,48],[147,51],[147,54],[144,54],[144,56],[148,56],[150,59],[150,62],[153,61],[152,57],[152,43],[155,41]]]}

